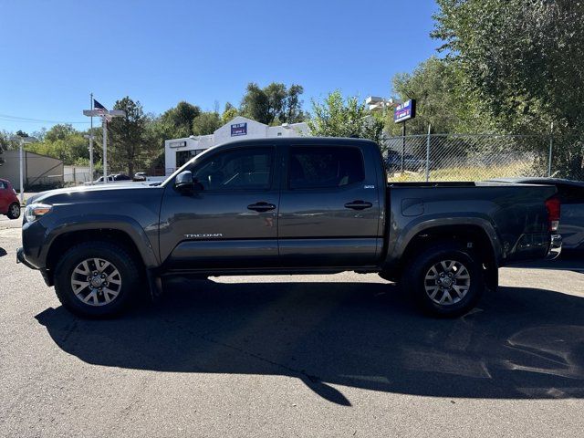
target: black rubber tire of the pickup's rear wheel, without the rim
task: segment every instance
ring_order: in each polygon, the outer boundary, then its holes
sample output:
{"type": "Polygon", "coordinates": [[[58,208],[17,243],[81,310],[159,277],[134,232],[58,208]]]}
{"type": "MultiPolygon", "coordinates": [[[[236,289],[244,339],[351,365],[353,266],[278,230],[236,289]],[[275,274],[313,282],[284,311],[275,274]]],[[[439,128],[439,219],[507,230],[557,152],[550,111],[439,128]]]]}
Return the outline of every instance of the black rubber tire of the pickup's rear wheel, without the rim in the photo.
{"type": "MultiPolygon", "coordinates": [[[[448,272],[446,269],[443,270],[448,272]]],[[[454,282],[456,282],[456,271],[452,272],[454,272],[454,282]]],[[[463,269],[459,267],[458,272],[463,272],[463,269]]],[[[465,276],[464,274],[462,277],[465,276]]],[[[460,245],[442,243],[426,247],[419,255],[413,257],[404,272],[401,285],[412,294],[412,297],[424,312],[435,317],[456,318],[474,308],[483,296],[485,292],[485,273],[482,262],[472,251],[460,245]],[[435,280],[426,278],[427,275],[432,276],[436,270],[436,267],[434,267],[434,271],[431,271],[433,266],[438,265],[437,269],[440,271],[440,266],[443,266],[442,262],[445,262],[446,266],[450,266],[450,261],[457,262],[466,268],[469,276],[468,287],[462,285],[462,283],[465,284],[466,282],[465,278],[458,280],[457,289],[443,287],[443,283],[441,283],[443,279],[440,277],[440,272],[436,272],[435,280]],[[433,284],[436,286],[434,287],[433,284]],[[428,292],[426,287],[430,289],[428,292]],[[456,290],[466,290],[466,292],[463,297],[460,297],[459,292],[456,292],[456,290]],[[436,295],[432,298],[431,295],[433,293],[436,295]],[[448,297],[451,298],[452,302],[448,303],[448,299],[445,299],[443,304],[436,302],[448,297]]],[[[456,285],[452,287],[456,287],[456,285]]]]}

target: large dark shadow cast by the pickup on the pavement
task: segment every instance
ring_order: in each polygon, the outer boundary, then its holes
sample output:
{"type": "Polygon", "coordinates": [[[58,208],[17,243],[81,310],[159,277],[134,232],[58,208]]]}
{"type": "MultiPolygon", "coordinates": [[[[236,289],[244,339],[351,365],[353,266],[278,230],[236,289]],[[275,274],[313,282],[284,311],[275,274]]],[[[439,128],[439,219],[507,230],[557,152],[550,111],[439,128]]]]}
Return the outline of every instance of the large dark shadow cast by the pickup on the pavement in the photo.
{"type": "Polygon", "coordinates": [[[584,397],[584,298],[500,287],[464,318],[418,314],[382,283],[177,278],[119,319],[36,316],[60,349],[136,370],[286,375],[328,401],[342,388],[436,397],[584,397]]]}

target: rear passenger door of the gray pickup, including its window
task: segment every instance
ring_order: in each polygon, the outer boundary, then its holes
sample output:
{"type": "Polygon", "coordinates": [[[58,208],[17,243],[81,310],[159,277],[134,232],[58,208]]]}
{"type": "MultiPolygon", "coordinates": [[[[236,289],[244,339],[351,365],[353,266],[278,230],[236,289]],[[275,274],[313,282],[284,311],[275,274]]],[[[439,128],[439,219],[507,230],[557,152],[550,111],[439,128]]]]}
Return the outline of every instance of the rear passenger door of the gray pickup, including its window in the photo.
{"type": "Polygon", "coordinates": [[[374,265],[381,247],[380,200],[363,151],[291,145],[286,155],[278,222],[282,265],[374,265]]]}

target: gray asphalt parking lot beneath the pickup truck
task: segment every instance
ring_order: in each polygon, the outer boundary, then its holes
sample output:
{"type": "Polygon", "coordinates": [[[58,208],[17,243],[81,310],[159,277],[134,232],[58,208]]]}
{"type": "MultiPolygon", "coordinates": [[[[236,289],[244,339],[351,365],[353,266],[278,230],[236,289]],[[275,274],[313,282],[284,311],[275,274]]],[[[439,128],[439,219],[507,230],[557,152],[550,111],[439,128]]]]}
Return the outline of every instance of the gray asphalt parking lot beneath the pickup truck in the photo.
{"type": "Polygon", "coordinates": [[[0,436],[580,436],[584,261],[501,271],[464,318],[375,275],[177,278],[89,321],[0,219],[0,436]]]}

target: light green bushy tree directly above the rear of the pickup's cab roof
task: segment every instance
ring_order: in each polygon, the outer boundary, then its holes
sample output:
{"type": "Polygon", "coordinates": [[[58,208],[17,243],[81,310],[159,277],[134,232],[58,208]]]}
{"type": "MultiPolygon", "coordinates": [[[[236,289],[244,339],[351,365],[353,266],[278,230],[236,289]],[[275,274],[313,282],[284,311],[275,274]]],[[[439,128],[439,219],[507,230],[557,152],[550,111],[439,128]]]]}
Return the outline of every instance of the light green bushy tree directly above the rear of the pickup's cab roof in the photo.
{"type": "Polygon", "coordinates": [[[312,102],[308,120],[312,135],[321,137],[359,137],[381,142],[383,120],[371,114],[357,97],[343,98],[340,91],[328,94],[322,103],[312,102]]]}

